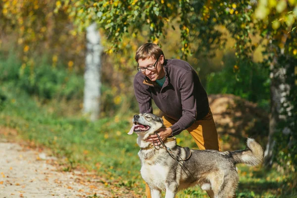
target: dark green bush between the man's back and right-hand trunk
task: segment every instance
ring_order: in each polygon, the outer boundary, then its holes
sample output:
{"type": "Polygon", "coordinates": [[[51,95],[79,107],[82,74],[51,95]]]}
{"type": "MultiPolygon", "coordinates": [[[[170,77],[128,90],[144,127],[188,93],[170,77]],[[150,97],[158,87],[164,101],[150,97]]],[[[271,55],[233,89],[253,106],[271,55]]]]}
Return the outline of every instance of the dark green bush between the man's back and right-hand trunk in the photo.
{"type": "Polygon", "coordinates": [[[225,66],[222,71],[213,72],[207,76],[207,93],[234,94],[268,108],[270,99],[268,68],[249,61],[242,61],[239,65],[235,65],[236,58],[232,55],[226,55],[223,62],[225,66]],[[237,68],[240,68],[240,71],[237,71],[237,68]]]}

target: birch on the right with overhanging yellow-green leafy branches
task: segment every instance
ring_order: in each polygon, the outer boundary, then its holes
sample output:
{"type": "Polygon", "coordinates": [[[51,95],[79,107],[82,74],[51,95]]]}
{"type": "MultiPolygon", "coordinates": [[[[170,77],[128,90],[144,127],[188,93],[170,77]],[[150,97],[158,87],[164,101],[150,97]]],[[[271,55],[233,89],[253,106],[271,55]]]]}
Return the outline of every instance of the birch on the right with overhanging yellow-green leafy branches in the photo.
{"type": "MultiPolygon", "coordinates": [[[[102,0],[100,2],[77,0],[71,2],[75,6],[71,7],[70,12],[78,13],[79,16],[76,18],[76,24],[92,19],[105,30],[112,44],[109,51],[120,49],[123,35],[137,34],[145,24],[150,30],[148,41],[158,43],[161,36],[166,37],[166,27],[170,26],[170,22],[174,19],[178,20],[180,26],[180,52],[184,56],[191,54],[190,47],[195,41],[198,41],[198,44],[195,43],[197,47],[192,46],[192,49],[200,54],[212,55],[212,49],[224,48],[225,35],[217,28],[224,26],[235,40],[234,52],[238,59],[238,64],[234,66],[236,73],[240,72],[242,60],[248,60],[249,65],[252,66],[255,49],[260,45],[264,46],[262,65],[271,70],[272,76],[270,135],[266,159],[270,161],[273,156],[272,140],[275,140],[276,144],[278,142],[278,145],[284,145],[283,143],[286,142],[281,150],[283,153],[286,149],[290,151],[286,151],[283,155],[292,154],[289,161],[297,165],[297,154],[293,149],[295,147],[288,145],[288,142],[296,143],[296,135],[291,132],[296,131],[294,113],[296,74],[288,73],[296,70],[293,61],[290,61],[297,58],[296,27],[293,25],[297,12],[295,0],[288,2],[286,0],[269,2],[266,0],[236,2],[231,0],[102,0]],[[252,39],[256,37],[260,38],[252,39]],[[253,43],[253,40],[256,42],[253,43]],[[287,127],[282,127],[283,134],[287,133],[286,140],[274,138],[275,131],[279,131],[277,123],[280,118],[282,122],[288,124],[287,127]]],[[[65,4],[69,4],[69,0],[66,0],[65,4]]],[[[285,164],[288,158],[283,157],[281,161],[285,164]]]]}

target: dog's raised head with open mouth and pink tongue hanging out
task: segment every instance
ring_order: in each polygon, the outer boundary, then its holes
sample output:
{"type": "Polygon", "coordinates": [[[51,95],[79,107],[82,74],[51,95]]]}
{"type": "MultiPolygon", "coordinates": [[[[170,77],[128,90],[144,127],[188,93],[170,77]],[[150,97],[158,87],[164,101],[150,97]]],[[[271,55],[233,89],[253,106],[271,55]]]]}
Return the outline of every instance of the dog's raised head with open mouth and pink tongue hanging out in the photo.
{"type": "Polygon", "coordinates": [[[162,118],[152,113],[141,113],[133,116],[133,126],[128,134],[153,134],[163,126],[162,118]]]}

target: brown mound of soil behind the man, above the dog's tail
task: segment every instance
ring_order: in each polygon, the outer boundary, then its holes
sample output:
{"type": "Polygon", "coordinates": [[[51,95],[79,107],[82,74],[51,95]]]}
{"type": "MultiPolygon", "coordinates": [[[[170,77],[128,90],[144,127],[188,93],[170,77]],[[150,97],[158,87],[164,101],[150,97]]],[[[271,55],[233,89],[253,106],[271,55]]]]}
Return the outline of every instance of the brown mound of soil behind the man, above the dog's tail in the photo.
{"type": "Polygon", "coordinates": [[[264,148],[268,137],[268,112],[231,94],[209,95],[209,105],[223,150],[244,148],[253,138],[264,148]]]}

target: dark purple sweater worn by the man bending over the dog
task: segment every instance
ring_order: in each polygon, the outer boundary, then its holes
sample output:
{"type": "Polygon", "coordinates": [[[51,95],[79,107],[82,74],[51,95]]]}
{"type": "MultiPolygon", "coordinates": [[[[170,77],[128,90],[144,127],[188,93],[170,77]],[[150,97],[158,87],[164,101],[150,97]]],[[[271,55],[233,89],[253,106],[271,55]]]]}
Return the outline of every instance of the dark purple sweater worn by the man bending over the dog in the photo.
{"type": "Polygon", "coordinates": [[[168,59],[163,67],[166,78],[163,87],[138,72],[134,78],[134,92],[140,113],[152,113],[153,99],[161,111],[177,121],[170,127],[172,136],[175,136],[208,113],[208,98],[196,71],[188,62],[168,59]]]}

